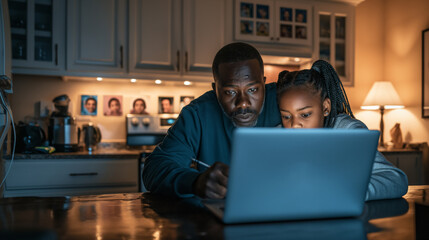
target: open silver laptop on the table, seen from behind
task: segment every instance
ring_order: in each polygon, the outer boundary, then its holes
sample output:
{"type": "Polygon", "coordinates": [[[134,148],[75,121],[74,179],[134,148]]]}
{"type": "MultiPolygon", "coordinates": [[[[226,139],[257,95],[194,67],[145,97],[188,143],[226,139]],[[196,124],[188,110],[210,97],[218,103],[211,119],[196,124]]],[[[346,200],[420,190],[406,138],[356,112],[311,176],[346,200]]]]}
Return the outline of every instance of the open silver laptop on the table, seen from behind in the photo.
{"type": "Polygon", "coordinates": [[[361,215],[379,131],[238,128],[228,192],[204,205],[224,223],[361,215]]]}

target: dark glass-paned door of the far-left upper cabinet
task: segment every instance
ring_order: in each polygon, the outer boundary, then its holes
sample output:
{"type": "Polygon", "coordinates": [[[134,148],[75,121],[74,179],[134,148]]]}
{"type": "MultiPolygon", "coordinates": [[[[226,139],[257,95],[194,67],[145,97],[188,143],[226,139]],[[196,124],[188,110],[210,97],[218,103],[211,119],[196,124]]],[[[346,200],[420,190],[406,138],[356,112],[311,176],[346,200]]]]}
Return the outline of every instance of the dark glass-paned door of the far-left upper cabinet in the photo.
{"type": "Polygon", "coordinates": [[[8,3],[12,67],[58,68],[54,0],[9,0],[8,3]]]}

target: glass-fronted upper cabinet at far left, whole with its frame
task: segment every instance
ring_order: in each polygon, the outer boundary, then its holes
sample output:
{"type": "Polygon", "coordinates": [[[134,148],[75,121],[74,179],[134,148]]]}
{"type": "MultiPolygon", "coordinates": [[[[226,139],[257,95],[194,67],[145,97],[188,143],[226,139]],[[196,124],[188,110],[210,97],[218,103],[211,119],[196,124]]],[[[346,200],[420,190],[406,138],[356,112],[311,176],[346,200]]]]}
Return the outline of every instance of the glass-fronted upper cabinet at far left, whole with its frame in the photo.
{"type": "Polygon", "coordinates": [[[12,72],[49,74],[65,66],[65,3],[9,0],[12,72]]]}

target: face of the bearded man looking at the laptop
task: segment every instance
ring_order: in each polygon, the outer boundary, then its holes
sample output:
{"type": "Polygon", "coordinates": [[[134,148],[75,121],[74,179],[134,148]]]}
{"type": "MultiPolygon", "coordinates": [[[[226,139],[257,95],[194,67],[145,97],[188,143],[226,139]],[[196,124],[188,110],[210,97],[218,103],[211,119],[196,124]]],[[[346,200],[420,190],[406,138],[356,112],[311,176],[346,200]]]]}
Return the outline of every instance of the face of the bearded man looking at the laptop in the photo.
{"type": "Polygon", "coordinates": [[[237,127],[253,127],[265,98],[265,78],[256,59],[221,63],[213,86],[225,114],[237,127]]]}

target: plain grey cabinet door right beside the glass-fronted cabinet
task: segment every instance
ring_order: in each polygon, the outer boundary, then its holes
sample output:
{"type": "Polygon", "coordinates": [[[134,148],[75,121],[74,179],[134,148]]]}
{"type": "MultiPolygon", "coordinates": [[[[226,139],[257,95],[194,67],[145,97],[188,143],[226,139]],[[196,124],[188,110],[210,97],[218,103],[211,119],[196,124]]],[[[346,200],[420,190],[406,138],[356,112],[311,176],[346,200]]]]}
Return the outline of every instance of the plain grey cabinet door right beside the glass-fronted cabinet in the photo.
{"type": "Polygon", "coordinates": [[[67,70],[124,73],[125,0],[67,2],[67,70]]]}

